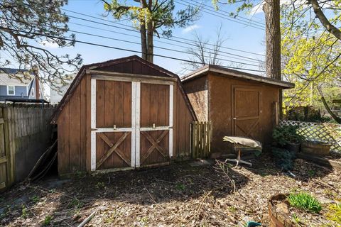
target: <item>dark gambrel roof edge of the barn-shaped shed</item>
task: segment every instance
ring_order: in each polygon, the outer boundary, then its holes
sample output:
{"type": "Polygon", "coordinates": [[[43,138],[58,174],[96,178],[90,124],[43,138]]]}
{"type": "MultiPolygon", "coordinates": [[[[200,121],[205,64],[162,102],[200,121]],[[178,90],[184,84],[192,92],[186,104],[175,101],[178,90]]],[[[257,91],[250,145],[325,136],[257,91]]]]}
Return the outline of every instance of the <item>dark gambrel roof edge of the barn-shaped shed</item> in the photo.
{"type": "Polygon", "coordinates": [[[73,79],[72,83],[70,84],[69,89],[67,89],[67,92],[63,96],[63,99],[60,101],[57,108],[55,109],[55,112],[51,116],[50,122],[56,123],[58,116],[60,115],[61,111],[63,110],[65,104],[67,104],[67,102],[70,100],[73,92],[75,92],[75,89],[77,88],[78,84],[80,84],[82,77],[87,73],[87,70],[104,70],[107,72],[115,72],[115,70],[117,70],[119,72],[124,72],[125,70],[128,70],[128,69],[119,67],[119,70],[118,70],[118,69],[114,69],[114,66],[119,65],[121,63],[133,62],[133,61],[140,62],[141,65],[145,65],[148,68],[150,68],[151,70],[148,70],[148,72],[146,72],[146,74],[155,75],[155,73],[158,73],[158,76],[160,76],[160,74],[161,74],[163,77],[175,78],[177,81],[177,84],[180,88],[180,92],[183,94],[183,97],[185,99],[185,103],[188,106],[188,109],[190,109],[190,114],[193,116],[193,118],[195,120],[197,119],[195,112],[193,110],[193,107],[190,104],[188,96],[185,94],[185,92],[183,90],[180,78],[178,77],[177,74],[174,74],[173,72],[170,72],[170,71],[164,69],[163,67],[159,67],[158,65],[154,65],[153,63],[148,62],[148,61],[142,59],[141,57],[139,57],[137,55],[132,55],[129,57],[122,57],[122,58],[118,58],[118,59],[114,59],[114,60],[108,60],[105,62],[97,62],[97,63],[93,63],[90,65],[83,65],[80,68],[80,71],[76,74],[75,79],[73,79]]]}

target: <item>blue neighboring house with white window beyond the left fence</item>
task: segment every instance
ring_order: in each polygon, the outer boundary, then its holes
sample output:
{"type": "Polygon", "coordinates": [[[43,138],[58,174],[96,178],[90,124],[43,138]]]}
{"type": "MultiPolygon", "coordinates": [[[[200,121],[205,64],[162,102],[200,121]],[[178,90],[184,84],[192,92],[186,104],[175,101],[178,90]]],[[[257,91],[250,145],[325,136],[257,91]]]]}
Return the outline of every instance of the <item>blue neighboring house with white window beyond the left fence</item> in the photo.
{"type": "Polygon", "coordinates": [[[33,72],[0,68],[0,101],[6,99],[44,99],[43,86],[33,72]],[[38,88],[38,92],[37,92],[38,88]]]}

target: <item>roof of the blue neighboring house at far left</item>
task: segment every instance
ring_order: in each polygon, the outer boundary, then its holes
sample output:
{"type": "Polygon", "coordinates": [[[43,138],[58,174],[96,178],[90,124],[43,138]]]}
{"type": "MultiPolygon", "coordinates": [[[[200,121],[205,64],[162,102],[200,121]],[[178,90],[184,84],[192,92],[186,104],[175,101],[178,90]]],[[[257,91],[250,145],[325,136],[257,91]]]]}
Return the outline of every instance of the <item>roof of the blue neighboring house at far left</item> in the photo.
{"type": "Polygon", "coordinates": [[[0,85],[28,86],[32,79],[33,74],[28,70],[0,68],[0,85]]]}

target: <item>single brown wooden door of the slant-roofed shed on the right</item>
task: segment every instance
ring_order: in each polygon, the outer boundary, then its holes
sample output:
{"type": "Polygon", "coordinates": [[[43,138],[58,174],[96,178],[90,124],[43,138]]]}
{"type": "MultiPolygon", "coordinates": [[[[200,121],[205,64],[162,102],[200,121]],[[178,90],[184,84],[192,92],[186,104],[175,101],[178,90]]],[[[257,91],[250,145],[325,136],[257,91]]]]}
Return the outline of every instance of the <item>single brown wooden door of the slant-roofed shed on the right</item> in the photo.
{"type": "Polygon", "coordinates": [[[234,87],[233,92],[232,135],[261,140],[261,92],[243,87],[234,87]]]}

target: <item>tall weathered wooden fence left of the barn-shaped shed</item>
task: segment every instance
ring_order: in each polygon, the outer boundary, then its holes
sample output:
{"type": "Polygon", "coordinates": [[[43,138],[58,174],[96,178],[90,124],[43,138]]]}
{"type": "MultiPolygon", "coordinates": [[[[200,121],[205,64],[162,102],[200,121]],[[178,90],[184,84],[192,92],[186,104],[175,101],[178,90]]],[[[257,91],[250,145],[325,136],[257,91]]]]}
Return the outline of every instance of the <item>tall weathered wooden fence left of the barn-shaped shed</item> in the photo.
{"type": "Polygon", "coordinates": [[[50,143],[54,108],[0,106],[0,190],[28,175],[50,143]]]}

